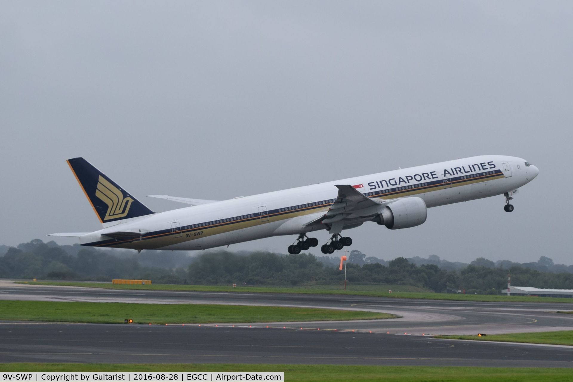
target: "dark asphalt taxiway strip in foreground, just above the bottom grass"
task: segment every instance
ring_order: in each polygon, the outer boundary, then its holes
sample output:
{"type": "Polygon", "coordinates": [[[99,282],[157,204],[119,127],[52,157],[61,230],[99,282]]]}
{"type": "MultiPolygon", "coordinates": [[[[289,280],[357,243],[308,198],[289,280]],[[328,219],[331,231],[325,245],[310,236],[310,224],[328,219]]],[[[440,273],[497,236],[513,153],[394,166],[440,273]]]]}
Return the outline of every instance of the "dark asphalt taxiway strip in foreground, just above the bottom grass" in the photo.
{"type": "Polygon", "coordinates": [[[573,367],[573,348],[322,330],[0,324],[0,361],[573,367]]]}

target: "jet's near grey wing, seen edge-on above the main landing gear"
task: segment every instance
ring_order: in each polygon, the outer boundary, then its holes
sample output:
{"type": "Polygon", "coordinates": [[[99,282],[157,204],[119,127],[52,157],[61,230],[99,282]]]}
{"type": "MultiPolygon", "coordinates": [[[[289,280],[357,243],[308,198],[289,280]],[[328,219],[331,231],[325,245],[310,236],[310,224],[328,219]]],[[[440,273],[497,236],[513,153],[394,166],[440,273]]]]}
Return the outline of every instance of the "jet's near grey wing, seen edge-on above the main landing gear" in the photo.
{"type": "Polygon", "coordinates": [[[335,186],[338,188],[336,201],[323,216],[309,221],[304,225],[305,227],[315,224],[325,224],[331,227],[334,224],[337,226],[345,223],[351,224],[352,220],[375,217],[386,205],[386,201],[371,199],[351,185],[335,186]]]}

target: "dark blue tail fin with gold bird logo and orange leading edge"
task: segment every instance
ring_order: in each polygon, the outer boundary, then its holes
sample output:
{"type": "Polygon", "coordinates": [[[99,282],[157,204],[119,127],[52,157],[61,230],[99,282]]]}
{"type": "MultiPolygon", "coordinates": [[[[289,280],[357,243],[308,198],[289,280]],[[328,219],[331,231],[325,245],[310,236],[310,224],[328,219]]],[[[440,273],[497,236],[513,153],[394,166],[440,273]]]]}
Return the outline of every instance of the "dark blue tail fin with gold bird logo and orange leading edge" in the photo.
{"type": "Polygon", "coordinates": [[[154,213],[84,158],[67,162],[101,224],[154,213]]]}

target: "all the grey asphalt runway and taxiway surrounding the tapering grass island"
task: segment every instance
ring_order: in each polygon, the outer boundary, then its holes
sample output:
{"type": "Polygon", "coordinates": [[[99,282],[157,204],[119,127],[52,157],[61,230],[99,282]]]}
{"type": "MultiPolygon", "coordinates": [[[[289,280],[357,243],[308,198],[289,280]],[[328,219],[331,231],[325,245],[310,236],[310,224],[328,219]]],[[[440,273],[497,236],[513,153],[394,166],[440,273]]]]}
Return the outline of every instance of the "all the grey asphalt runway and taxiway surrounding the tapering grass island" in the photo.
{"type": "Polygon", "coordinates": [[[321,307],[393,320],[245,325],[0,323],[0,362],[293,363],[573,367],[573,347],[432,339],[448,333],[573,329],[562,303],[479,303],[362,296],[121,291],[0,281],[0,300],[321,307]],[[251,326],[251,327],[249,327],[251,326]],[[269,328],[266,328],[269,326],[269,328]],[[300,329],[300,328],[303,329],[300,329]],[[320,328],[320,330],[319,330],[320,328]],[[336,331],[334,330],[336,329],[336,331]],[[354,331],[354,332],[353,332],[354,331]],[[387,332],[390,332],[389,334],[387,332]],[[407,333],[405,335],[404,333],[407,333]],[[424,333],[424,336],[421,334],[424,333]]]}

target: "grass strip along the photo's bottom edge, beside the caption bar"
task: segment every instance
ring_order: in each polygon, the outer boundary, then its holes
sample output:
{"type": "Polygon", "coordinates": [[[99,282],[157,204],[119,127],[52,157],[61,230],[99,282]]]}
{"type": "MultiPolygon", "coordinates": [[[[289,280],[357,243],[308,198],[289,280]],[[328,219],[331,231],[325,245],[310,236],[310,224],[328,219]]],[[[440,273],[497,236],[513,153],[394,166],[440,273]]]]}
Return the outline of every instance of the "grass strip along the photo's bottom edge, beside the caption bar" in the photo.
{"type": "Polygon", "coordinates": [[[0,372],[29,371],[282,371],[287,381],[571,381],[573,369],[243,364],[0,364],[0,372]]]}

